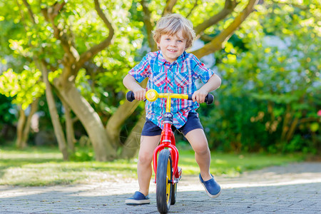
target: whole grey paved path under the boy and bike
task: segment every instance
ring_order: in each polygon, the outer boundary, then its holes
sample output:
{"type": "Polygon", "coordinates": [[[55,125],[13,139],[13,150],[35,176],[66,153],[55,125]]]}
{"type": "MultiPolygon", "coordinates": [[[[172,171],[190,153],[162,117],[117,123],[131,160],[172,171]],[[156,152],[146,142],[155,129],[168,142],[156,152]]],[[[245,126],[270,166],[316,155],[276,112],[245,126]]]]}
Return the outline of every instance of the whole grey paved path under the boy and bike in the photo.
{"type": "MultiPolygon", "coordinates": [[[[216,178],[223,191],[208,198],[197,177],[184,176],[170,213],[321,213],[321,163],[292,163],[216,178]]],[[[155,185],[151,204],[128,206],[137,190],[125,183],[19,188],[0,186],[0,213],[158,213],[155,185]]]]}

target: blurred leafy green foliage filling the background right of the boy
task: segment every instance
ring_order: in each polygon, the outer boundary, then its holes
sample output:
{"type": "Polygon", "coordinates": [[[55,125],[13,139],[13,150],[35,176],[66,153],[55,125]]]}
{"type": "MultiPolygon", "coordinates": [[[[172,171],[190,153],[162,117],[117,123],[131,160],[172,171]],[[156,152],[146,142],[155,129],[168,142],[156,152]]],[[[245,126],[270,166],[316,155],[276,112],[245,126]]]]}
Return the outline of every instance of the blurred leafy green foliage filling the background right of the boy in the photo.
{"type": "MultiPolygon", "coordinates": [[[[320,7],[265,1],[221,56],[220,105],[211,142],[234,151],[320,151],[320,7]],[[230,141],[231,147],[228,145],[230,141]]],[[[231,41],[232,42],[232,41],[231,41]]]]}

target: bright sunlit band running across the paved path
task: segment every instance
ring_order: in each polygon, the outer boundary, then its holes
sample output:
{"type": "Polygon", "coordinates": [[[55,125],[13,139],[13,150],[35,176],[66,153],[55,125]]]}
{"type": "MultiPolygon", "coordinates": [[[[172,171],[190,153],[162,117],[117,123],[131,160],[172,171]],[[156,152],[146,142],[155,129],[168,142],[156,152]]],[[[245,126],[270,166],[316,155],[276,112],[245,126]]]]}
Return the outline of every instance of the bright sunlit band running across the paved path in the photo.
{"type": "MultiPolygon", "coordinates": [[[[19,173],[19,172],[17,172],[19,173]]],[[[277,187],[286,185],[303,185],[320,183],[321,173],[280,173],[266,172],[261,173],[255,171],[253,173],[245,173],[236,178],[226,178],[223,176],[215,176],[224,190],[238,188],[258,188],[258,187],[277,187]]],[[[150,193],[156,193],[156,184],[153,178],[150,183],[150,193]]],[[[106,196],[131,194],[138,189],[138,182],[134,178],[106,179],[88,184],[76,185],[55,185],[46,187],[11,187],[6,185],[0,186],[0,198],[14,198],[26,195],[49,194],[51,192],[60,192],[69,196],[106,196]]],[[[200,184],[197,175],[183,175],[178,183],[178,192],[204,191],[203,185],[200,184]]]]}

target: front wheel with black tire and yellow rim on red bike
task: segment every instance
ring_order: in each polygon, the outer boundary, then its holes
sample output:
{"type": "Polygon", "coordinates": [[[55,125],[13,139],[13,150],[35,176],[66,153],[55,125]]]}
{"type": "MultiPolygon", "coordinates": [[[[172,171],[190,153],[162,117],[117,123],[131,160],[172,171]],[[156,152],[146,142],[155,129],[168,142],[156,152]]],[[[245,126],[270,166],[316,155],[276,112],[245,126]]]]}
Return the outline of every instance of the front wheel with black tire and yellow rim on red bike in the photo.
{"type": "Polygon", "coordinates": [[[173,184],[172,158],[168,149],[163,149],[158,155],[156,171],[156,202],[159,213],[168,213],[171,203],[173,184]]]}

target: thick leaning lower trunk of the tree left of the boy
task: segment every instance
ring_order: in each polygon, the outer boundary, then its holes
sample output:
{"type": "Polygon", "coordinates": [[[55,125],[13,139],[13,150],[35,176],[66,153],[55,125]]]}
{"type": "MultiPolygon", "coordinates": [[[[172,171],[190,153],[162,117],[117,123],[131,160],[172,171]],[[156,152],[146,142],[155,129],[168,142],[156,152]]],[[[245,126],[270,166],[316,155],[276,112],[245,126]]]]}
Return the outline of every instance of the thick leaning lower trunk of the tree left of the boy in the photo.
{"type": "Polygon", "coordinates": [[[62,87],[58,79],[56,79],[54,84],[86,129],[93,144],[96,161],[111,161],[115,159],[116,149],[111,146],[112,143],[107,137],[101,118],[99,118],[98,113],[88,101],[81,96],[74,83],[66,81],[62,87]]]}

